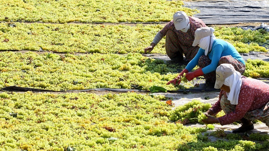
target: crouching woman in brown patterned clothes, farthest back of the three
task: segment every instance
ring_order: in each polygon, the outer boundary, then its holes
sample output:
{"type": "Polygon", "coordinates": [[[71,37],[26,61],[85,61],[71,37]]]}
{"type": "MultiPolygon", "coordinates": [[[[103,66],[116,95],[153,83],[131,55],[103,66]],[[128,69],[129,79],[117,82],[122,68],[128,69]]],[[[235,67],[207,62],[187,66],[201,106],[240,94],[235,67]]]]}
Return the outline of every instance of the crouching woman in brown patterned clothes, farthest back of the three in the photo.
{"type": "Polygon", "coordinates": [[[199,18],[188,17],[184,11],[177,11],[173,15],[173,20],[159,31],[151,42],[151,46],[145,48],[145,53],[151,52],[153,48],[165,38],[166,54],[171,60],[183,60],[183,54],[187,60],[193,59],[199,47],[192,46],[195,30],[206,27],[205,23],[199,18]]]}

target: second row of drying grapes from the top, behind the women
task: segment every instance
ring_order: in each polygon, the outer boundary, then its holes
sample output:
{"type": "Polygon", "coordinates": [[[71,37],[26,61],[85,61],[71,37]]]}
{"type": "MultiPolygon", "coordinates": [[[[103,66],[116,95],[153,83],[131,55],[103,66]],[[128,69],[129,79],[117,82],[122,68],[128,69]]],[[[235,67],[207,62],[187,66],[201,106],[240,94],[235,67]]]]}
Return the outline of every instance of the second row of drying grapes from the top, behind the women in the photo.
{"type": "MultiPolygon", "coordinates": [[[[55,52],[144,53],[164,25],[137,24],[45,24],[0,23],[0,50],[47,50],[55,52]]],[[[241,28],[215,28],[217,38],[233,44],[238,52],[267,52],[259,46],[269,41],[269,32],[241,28]]],[[[165,38],[152,53],[165,54],[165,38]]]]}

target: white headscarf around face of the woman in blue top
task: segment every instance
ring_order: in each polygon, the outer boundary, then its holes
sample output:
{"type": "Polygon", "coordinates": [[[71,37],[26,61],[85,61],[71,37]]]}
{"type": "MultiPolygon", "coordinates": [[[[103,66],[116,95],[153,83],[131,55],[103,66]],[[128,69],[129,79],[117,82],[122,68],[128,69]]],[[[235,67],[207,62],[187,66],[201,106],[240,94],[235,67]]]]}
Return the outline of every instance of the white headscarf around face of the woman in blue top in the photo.
{"type": "Polygon", "coordinates": [[[215,39],[216,39],[216,37],[214,34],[200,39],[198,46],[205,50],[206,56],[208,53],[210,53],[210,51],[212,49],[213,42],[215,39]],[[211,38],[211,40],[210,40],[210,38],[211,38]],[[210,42],[210,44],[209,44],[209,42],[210,42]]]}

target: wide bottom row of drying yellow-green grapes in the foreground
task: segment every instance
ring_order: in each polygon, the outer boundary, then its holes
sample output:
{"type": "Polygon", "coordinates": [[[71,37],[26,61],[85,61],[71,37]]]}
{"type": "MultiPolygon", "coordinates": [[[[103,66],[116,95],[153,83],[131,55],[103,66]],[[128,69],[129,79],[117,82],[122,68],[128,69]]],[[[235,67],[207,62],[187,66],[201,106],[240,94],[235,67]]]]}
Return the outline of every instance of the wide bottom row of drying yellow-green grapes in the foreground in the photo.
{"type": "Polygon", "coordinates": [[[0,151],[268,149],[266,136],[257,134],[248,141],[221,135],[230,140],[210,142],[208,133],[201,134],[206,128],[170,122],[173,111],[165,99],[137,93],[0,93],[0,151]]]}

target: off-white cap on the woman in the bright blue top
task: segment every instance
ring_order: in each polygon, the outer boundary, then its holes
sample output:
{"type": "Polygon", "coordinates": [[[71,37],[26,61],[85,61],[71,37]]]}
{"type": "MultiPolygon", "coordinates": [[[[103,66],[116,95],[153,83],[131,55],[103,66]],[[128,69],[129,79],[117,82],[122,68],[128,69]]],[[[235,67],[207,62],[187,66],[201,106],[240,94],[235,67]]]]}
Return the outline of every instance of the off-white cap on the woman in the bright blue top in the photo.
{"type": "Polygon", "coordinates": [[[193,47],[197,46],[200,39],[212,35],[214,31],[215,31],[214,28],[211,28],[211,27],[210,28],[209,27],[201,27],[201,28],[198,28],[197,30],[195,30],[194,41],[193,41],[192,46],[193,47]]]}

